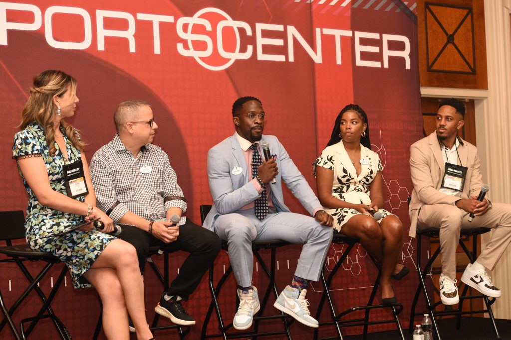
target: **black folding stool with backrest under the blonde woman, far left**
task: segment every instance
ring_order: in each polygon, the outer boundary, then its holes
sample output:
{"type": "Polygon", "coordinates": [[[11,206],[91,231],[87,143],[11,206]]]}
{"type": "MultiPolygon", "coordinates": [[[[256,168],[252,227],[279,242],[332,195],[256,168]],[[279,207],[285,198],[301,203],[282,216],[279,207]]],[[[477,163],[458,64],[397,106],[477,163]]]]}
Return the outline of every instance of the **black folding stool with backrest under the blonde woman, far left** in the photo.
{"type": "Polygon", "coordinates": [[[64,265],[60,271],[57,281],[50,291],[50,295],[48,297],[44,295],[44,293],[39,288],[38,283],[55,264],[61,263],[60,259],[47,252],[34,251],[29,246],[27,246],[25,243],[25,216],[22,211],[18,210],[0,212],[0,221],[2,221],[0,223],[0,241],[6,241],[7,244],[7,246],[0,247],[0,253],[8,256],[6,259],[1,259],[0,263],[15,263],[29,281],[28,287],[21,293],[21,295],[9,309],[5,305],[2,293],[0,292],[0,308],[2,309],[2,313],[4,315],[4,320],[0,322],[0,330],[2,330],[4,326],[8,324],[12,334],[17,340],[25,339],[32,332],[39,320],[50,318],[60,338],[71,339],[71,335],[69,335],[69,332],[65,328],[64,324],[55,315],[51,307],[51,302],[53,301],[53,298],[55,297],[55,294],[57,293],[67,273],[67,266],[64,265]],[[22,240],[24,244],[12,245],[12,241],[14,240],[22,240]],[[35,277],[33,277],[25,266],[24,262],[39,260],[44,261],[46,265],[35,277]],[[43,305],[37,312],[36,316],[21,320],[20,331],[18,332],[12,320],[12,316],[14,311],[32,291],[37,293],[43,305]],[[25,329],[25,323],[27,322],[30,322],[30,325],[27,329],[25,329]]]}

